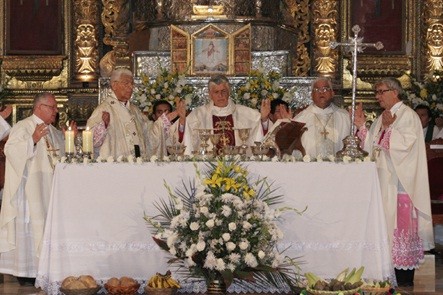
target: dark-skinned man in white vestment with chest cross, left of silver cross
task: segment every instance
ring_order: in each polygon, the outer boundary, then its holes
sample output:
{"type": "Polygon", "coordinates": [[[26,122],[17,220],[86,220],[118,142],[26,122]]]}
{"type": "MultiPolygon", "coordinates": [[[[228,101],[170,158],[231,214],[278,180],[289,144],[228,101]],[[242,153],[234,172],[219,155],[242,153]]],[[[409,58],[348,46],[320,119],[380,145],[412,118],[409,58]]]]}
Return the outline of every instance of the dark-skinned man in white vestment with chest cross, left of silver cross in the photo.
{"type": "Polygon", "coordinates": [[[293,118],[308,128],[302,135],[302,145],[311,157],[335,155],[350,135],[349,113],[332,103],[334,91],[328,78],[317,78],[312,83],[311,96],[313,103],[293,118]]]}

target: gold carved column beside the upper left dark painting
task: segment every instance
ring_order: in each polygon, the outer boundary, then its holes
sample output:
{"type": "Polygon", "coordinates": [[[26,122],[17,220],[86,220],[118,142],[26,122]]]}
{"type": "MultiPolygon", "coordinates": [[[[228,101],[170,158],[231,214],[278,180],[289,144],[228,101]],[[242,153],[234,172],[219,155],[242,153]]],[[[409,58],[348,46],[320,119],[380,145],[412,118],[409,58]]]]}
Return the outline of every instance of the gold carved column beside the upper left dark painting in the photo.
{"type": "Polygon", "coordinates": [[[75,80],[91,82],[98,77],[98,15],[99,7],[95,0],[76,0],[73,2],[75,41],[74,56],[75,80]]]}

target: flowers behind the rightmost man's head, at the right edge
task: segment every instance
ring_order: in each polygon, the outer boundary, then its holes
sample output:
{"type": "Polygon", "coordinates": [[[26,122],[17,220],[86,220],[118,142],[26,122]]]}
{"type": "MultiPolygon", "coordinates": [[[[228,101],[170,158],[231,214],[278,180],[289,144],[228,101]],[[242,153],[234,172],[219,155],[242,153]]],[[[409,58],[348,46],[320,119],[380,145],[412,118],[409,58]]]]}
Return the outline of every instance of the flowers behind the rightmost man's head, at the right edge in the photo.
{"type": "Polygon", "coordinates": [[[443,117],[443,72],[436,71],[419,82],[411,77],[411,89],[406,90],[407,99],[415,108],[424,104],[429,106],[434,118],[443,117]]]}

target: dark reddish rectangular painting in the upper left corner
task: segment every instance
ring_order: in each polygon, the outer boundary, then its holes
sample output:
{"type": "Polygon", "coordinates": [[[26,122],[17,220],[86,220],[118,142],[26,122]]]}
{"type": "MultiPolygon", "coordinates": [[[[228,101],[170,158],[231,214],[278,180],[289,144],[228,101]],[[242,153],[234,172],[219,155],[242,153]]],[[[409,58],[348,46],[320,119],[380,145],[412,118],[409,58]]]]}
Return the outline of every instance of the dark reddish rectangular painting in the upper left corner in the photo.
{"type": "Polygon", "coordinates": [[[6,11],[6,55],[62,54],[61,0],[7,0],[6,11]]]}

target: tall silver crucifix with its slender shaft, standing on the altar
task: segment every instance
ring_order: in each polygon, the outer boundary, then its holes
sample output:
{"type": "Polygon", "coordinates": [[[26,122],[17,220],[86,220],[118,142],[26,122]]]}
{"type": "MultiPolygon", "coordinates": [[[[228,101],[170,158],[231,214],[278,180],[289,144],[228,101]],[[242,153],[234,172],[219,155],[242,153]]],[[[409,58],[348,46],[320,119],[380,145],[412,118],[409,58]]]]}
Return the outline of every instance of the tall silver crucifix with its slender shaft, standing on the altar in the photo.
{"type": "Polygon", "coordinates": [[[331,42],[331,48],[336,48],[337,46],[342,46],[347,48],[352,54],[352,106],[351,106],[351,136],[355,134],[355,92],[357,86],[357,52],[363,52],[366,47],[375,47],[375,49],[380,50],[383,48],[383,43],[363,43],[363,37],[358,37],[358,33],[361,31],[358,25],[352,27],[354,32],[354,37],[349,37],[348,42],[339,43],[331,42]]]}

